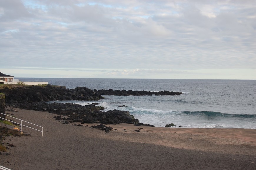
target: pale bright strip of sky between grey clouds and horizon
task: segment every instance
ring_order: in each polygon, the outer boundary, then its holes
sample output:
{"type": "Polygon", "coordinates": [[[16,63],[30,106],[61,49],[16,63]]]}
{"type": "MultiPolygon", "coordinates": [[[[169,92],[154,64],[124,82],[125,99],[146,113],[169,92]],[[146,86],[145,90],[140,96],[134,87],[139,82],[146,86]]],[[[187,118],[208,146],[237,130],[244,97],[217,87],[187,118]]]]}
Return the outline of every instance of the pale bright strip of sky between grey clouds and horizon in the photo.
{"type": "Polygon", "coordinates": [[[256,69],[66,69],[12,67],[0,69],[14,77],[143,78],[143,79],[256,79],[256,69]],[[37,76],[36,76],[37,75],[37,76]]]}

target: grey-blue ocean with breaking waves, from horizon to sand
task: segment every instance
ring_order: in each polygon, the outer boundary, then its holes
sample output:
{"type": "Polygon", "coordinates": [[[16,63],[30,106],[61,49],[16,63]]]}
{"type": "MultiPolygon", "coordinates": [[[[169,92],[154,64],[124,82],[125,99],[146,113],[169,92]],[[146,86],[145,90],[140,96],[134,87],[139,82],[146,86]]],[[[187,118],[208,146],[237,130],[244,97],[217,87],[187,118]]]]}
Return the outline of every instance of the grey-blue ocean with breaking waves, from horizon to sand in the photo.
{"type": "Polygon", "coordinates": [[[256,80],[18,78],[51,85],[134,91],[175,91],[177,96],[104,96],[100,101],[56,101],[81,105],[99,103],[105,110],[125,110],[144,124],[185,128],[256,129],[256,80]],[[118,107],[125,105],[126,107],[118,107]]]}

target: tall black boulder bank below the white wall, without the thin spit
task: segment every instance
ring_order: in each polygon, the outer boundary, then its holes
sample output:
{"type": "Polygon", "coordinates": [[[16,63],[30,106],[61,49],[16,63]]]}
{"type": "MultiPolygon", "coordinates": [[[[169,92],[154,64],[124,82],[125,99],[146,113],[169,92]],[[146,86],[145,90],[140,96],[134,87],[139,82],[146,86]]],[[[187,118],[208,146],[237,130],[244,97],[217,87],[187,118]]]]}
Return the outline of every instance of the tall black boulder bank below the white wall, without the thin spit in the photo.
{"type": "Polygon", "coordinates": [[[54,100],[99,100],[103,97],[86,87],[66,89],[64,86],[6,86],[0,89],[9,104],[54,100]]]}

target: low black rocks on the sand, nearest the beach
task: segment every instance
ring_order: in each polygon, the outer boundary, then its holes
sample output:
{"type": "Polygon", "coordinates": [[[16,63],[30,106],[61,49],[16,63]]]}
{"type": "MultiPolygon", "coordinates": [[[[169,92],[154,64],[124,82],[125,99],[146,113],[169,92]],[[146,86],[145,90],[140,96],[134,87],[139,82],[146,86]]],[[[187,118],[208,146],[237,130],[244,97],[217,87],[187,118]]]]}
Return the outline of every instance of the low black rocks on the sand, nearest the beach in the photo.
{"type": "MultiPolygon", "coordinates": [[[[81,106],[72,103],[46,103],[46,102],[33,102],[33,103],[17,103],[13,107],[36,110],[48,111],[49,113],[58,114],[55,119],[59,121],[71,121],[80,123],[101,123],[101,124],[139,124],[139,120],[130,115],[129,111],[109,110],[102,111],[104,107],[96,106],[94,104],[81,106]]],[[[66,123],[67,124],[67,123],[66,123]]]]}

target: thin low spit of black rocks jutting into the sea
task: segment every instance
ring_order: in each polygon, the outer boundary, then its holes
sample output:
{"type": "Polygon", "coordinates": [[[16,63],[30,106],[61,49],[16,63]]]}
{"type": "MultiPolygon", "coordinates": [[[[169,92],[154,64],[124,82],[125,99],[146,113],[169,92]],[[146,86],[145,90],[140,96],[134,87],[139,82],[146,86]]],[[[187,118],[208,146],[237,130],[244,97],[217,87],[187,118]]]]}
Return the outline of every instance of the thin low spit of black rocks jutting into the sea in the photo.
{"type": "Polygon", "coordinates": [[[152,96],[152,95],[156,95],[156,96],[175,96],[175,95],[181,95],[183,94],[182,92],[173,92],[173,91],[159,91],[159,92],[155,92],[155,91],[133,91],[133,90],[113,90],[113,89],[109,89],[109,90],[96,90],[94,89],[94,91],[96,93],[99,93],[100,95],[114,95],[114,96],[152,96]]]}

